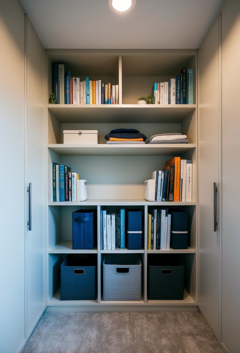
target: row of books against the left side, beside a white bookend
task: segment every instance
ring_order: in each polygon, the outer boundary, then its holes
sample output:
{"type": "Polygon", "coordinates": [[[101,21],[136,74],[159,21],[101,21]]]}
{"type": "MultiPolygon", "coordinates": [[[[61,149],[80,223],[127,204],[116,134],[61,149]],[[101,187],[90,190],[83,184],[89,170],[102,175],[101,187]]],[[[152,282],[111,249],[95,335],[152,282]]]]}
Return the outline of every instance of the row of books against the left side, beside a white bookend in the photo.
{"type": "Polygon", "coordinates": [[[51,163],[51,201],[81,201],[78,193],[80,174],[64,164],[51,163]]]}

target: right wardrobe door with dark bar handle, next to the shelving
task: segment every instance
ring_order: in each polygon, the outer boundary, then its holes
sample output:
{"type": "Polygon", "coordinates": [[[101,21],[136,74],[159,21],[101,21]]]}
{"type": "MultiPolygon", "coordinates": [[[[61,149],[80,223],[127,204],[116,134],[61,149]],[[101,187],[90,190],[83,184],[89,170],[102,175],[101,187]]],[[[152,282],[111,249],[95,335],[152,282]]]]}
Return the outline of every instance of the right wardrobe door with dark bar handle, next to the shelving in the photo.
{"type": "Polygon", "coordinates": [[[219,188],[220,156],[219,18],[198,50],[198,84],[198,306],[219,338],[219,225],[214,231],[214,183],[219,188]]]}

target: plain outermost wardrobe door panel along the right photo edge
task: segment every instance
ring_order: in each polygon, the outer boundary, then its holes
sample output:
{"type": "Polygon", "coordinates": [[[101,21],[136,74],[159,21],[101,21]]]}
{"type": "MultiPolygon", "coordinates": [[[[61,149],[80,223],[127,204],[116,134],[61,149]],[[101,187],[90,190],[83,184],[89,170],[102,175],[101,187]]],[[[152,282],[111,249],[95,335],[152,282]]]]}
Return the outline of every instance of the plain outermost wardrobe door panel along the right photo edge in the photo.
{"type": "Polygon", "coordinates": [[[240,2],[222,8],[222,343],[240,351],[240,2]]]}

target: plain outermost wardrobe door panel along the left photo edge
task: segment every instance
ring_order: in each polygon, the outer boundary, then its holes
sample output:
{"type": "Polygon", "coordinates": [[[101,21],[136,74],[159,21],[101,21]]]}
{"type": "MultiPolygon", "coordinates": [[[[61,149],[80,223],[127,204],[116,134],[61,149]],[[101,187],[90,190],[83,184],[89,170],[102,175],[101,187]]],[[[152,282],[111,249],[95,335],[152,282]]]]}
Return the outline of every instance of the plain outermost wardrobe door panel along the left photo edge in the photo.
{"type": "Polygon", "coordinates": [[[25,339],[24,37],[19,2],[1,1],[1,353],[17,352],[25,339]]]}

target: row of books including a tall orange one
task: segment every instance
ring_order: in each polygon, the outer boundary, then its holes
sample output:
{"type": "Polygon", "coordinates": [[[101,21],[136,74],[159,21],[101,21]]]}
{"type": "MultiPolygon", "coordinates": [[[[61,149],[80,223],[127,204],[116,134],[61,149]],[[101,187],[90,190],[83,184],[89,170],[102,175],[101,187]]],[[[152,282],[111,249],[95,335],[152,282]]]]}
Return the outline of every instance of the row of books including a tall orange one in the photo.
{"type": "Polygon", "coordinates": [[[192,160],[173,157],[150,179],[155,180],[154,201],[192,201],[192,160]]]}

